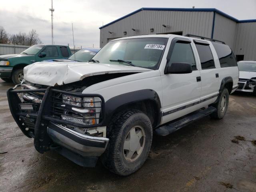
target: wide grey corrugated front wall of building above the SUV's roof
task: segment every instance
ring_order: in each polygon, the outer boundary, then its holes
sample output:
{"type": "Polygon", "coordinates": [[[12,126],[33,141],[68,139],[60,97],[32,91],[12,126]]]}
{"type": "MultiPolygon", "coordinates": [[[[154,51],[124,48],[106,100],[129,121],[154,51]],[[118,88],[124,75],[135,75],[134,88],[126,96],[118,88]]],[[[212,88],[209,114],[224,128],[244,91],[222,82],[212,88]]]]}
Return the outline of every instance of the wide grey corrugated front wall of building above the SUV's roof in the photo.
{"type": "Polygon", "coordinates": [[[125,36],[158,34],[167,32],[183,32],[211,37],[213,12],[184,12],[184,11],[151,11],[142,10],[100,30],[100,47],[108,39],[125,36]],[[170,25],[164,28],[162,24],[170,25]],[[132,28],[136,31],[132,31],[132,28]],[[154,32],[150,32],[154,28],[154,32]],[[110,34],[108,32],[113,32],[110,34]]]}

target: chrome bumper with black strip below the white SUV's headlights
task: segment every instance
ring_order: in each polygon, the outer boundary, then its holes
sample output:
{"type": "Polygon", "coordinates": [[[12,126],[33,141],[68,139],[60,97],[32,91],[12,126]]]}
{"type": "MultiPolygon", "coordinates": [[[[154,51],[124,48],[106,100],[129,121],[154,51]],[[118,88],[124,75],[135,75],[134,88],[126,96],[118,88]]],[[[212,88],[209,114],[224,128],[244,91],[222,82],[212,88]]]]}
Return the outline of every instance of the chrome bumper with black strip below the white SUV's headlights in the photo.
{"type": "Polygon", "coordinates": [[[81,156],[98,157],[108,145],[108,138],[80,134],[59,124],[50,123],[47,133],[55,144],[65,147],[81,156]]]}

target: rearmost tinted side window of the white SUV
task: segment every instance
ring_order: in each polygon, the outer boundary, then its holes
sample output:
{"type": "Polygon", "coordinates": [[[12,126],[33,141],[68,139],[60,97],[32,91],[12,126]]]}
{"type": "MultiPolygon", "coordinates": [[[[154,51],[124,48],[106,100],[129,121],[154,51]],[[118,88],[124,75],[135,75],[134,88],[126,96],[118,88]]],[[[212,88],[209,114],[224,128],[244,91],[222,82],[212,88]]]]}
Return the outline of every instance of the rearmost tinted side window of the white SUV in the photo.
{"type": "Polygon", "coordinates": [[[220,67],[237,66],[236,58],[232,50],[229,48],[229,46],[216,42],[212,42],[212,44],[220,60],[220,67]]]}

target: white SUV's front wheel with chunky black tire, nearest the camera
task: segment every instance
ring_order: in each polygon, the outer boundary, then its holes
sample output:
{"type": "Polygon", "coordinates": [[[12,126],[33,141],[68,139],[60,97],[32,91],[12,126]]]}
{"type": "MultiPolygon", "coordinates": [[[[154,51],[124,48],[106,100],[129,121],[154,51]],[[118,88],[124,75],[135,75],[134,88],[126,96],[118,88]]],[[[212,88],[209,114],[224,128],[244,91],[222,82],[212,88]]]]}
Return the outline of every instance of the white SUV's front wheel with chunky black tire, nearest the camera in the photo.
{"type": "Polygon", "coordinates": [[[139,110],[123,110],[110,122],[107,137],[109,143],[101,156],[103,165],[115,174],[127,176],[141,168],[148,157],[152,124],[139,110]],[[140,138],[139,135],[143,134],[140,138]]]}

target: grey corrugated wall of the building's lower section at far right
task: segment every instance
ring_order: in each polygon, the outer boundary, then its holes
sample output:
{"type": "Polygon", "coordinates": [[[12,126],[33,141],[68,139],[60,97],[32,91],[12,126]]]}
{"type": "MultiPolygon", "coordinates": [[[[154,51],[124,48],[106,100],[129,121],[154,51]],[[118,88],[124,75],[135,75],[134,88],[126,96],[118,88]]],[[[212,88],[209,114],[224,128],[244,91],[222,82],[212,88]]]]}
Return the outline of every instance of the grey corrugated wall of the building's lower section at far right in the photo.
{"type": "Polygon", "coordinates": [[[256,22],[238,23],[234,50],[244,60],[256,60],[256,22]]]}

